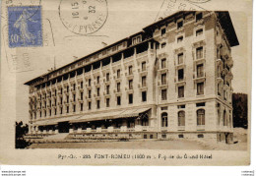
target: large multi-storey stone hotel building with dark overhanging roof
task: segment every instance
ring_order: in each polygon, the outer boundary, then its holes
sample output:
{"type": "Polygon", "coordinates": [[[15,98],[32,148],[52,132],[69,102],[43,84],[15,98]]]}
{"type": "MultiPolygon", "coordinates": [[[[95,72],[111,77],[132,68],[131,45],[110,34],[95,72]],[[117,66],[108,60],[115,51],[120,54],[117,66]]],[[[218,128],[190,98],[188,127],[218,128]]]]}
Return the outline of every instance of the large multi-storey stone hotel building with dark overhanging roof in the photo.
{"type": "Polygon", "coordinates": [[[228,12],[177,12],[36,77],[30,134],[232,140],[228,12]]]}

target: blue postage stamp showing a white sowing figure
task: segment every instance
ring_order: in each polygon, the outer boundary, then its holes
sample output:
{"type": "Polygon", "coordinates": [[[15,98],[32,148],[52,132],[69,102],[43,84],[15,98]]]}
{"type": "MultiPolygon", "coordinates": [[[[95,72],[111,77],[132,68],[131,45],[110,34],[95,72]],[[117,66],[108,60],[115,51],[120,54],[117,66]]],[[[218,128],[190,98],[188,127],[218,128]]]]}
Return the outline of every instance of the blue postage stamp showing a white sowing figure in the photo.
{"type": "Polygon", "coordinates": [[[9,47],[42,46],[41,6],[8,7],[9,47]]]}

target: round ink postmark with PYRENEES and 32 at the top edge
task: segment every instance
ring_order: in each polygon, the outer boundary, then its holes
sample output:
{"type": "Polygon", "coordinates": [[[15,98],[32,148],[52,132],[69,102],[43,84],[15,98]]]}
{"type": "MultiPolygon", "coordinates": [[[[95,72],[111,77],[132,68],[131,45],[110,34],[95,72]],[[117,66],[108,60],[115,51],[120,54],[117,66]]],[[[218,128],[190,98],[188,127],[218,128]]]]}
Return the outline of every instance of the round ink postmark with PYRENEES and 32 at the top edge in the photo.
{"type": "Polygon", "coordinates": [[[59,17],[66,29],[76,34],[91,34],[107,19],[106,0],[61,0],[59,17]]]}

